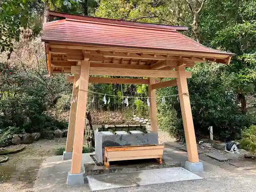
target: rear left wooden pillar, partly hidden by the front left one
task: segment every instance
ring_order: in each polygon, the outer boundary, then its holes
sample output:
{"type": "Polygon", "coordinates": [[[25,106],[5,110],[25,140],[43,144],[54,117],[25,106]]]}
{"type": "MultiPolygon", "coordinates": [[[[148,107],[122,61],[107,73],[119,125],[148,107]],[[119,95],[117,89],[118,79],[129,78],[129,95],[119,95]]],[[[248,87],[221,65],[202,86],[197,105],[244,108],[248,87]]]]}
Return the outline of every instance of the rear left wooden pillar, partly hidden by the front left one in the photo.
{"type": "Polygon", "coordinates": [[[68,136],[67,136],[67,143],[66,143],[66,152],[68,153],[73,151],[75,121],[76,121],[76,106],[77,106],[76,92],[78,91],[78,89],[76,89],[76,81],[78,79],[79,79],[79,75],[75,75],[74,83],[73,83],[72,98],[71,98],[70,114],[69,114],[68,136]]]}

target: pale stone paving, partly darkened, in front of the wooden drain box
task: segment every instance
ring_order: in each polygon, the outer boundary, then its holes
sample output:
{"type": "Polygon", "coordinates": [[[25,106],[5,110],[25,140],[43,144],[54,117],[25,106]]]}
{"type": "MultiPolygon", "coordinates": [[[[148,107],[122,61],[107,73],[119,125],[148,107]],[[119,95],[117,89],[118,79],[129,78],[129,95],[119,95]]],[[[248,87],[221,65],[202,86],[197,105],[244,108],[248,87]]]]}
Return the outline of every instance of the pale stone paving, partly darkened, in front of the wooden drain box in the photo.
{"type": "Polygon", "coordinates": [[[138,172],[87,176],[92,191],[142,186],[177,181],[198,180],[201,177],[182,167],[141,170],[138,172]]]}

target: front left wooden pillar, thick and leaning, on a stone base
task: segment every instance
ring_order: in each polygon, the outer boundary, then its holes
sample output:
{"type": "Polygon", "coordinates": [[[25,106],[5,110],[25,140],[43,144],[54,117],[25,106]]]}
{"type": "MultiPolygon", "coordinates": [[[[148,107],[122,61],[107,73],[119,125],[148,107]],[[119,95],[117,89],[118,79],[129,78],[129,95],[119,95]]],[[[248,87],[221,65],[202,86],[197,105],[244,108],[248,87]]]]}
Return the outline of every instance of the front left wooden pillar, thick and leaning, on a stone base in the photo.
{"type": "Polygon", "coordinates": [[[75,137],[74,148],[72,154],[71,174],[80,174],[81,161],[82,161],[82,147],[83,147],[83,133],[84,123],[86,119],[86,105],[88,96],[88,83],[89,83],[89,60],[84,60],[81,63],[81,71],[79,78],[77,109],[75,120],[75,137]]]}

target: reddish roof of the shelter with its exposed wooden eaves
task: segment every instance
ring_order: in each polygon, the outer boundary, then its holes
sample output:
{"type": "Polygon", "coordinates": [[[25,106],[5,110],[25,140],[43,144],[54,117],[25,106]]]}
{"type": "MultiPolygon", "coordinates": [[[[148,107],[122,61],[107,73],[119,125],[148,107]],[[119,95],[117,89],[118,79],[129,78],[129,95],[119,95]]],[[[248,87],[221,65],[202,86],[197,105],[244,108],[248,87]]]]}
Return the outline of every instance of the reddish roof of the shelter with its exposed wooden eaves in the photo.
{"type": "Polygon", "coordinates": [[[232,53],[207,48],[179,33],[186,27],[124,22],[49,12],[65,19],[45,23],[47,67],[51,73],[70,73],[71,66],[89,58],[91,67],[170,70],[180,61],[228,64],[232,53]]]}

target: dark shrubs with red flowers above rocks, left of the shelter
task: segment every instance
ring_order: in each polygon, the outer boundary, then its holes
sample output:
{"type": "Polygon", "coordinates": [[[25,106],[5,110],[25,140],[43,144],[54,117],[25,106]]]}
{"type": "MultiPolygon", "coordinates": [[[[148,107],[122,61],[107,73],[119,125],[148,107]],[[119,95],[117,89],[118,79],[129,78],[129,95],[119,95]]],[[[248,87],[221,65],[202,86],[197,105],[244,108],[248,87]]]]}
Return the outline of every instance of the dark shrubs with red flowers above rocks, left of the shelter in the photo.
{"type": "MultiPolygon", "coordinates": [[[[57,127],[63,129],[67,126],[66,123],[59,122],[49,116],[47,110],[56,104],[59,93],[65,93],[65,90],[68,92],[69,86],[60,90],[59,88],[62,88],[62,86],[59,86],[58,82],[63,80],[60,80],[59,76],[56,78],[47,77],[43,75],[44,73],[46,74],[46,70],[38,72],[35,69],[30,69],[30,71],[26,71],[25,68],[12,68],[6,63],[1,63],[1,130],[9,130],[12,134],[23,132],[43,133],[45,129],[54,130],[57,127]],[[48,81],[50,81],[50,84],[47,84],[48,81]],[[10,127],[16,128],[10,129],[10,127]]],[[[65,77],[62,76],[62,79],[65,79],[65,77]]]]}

